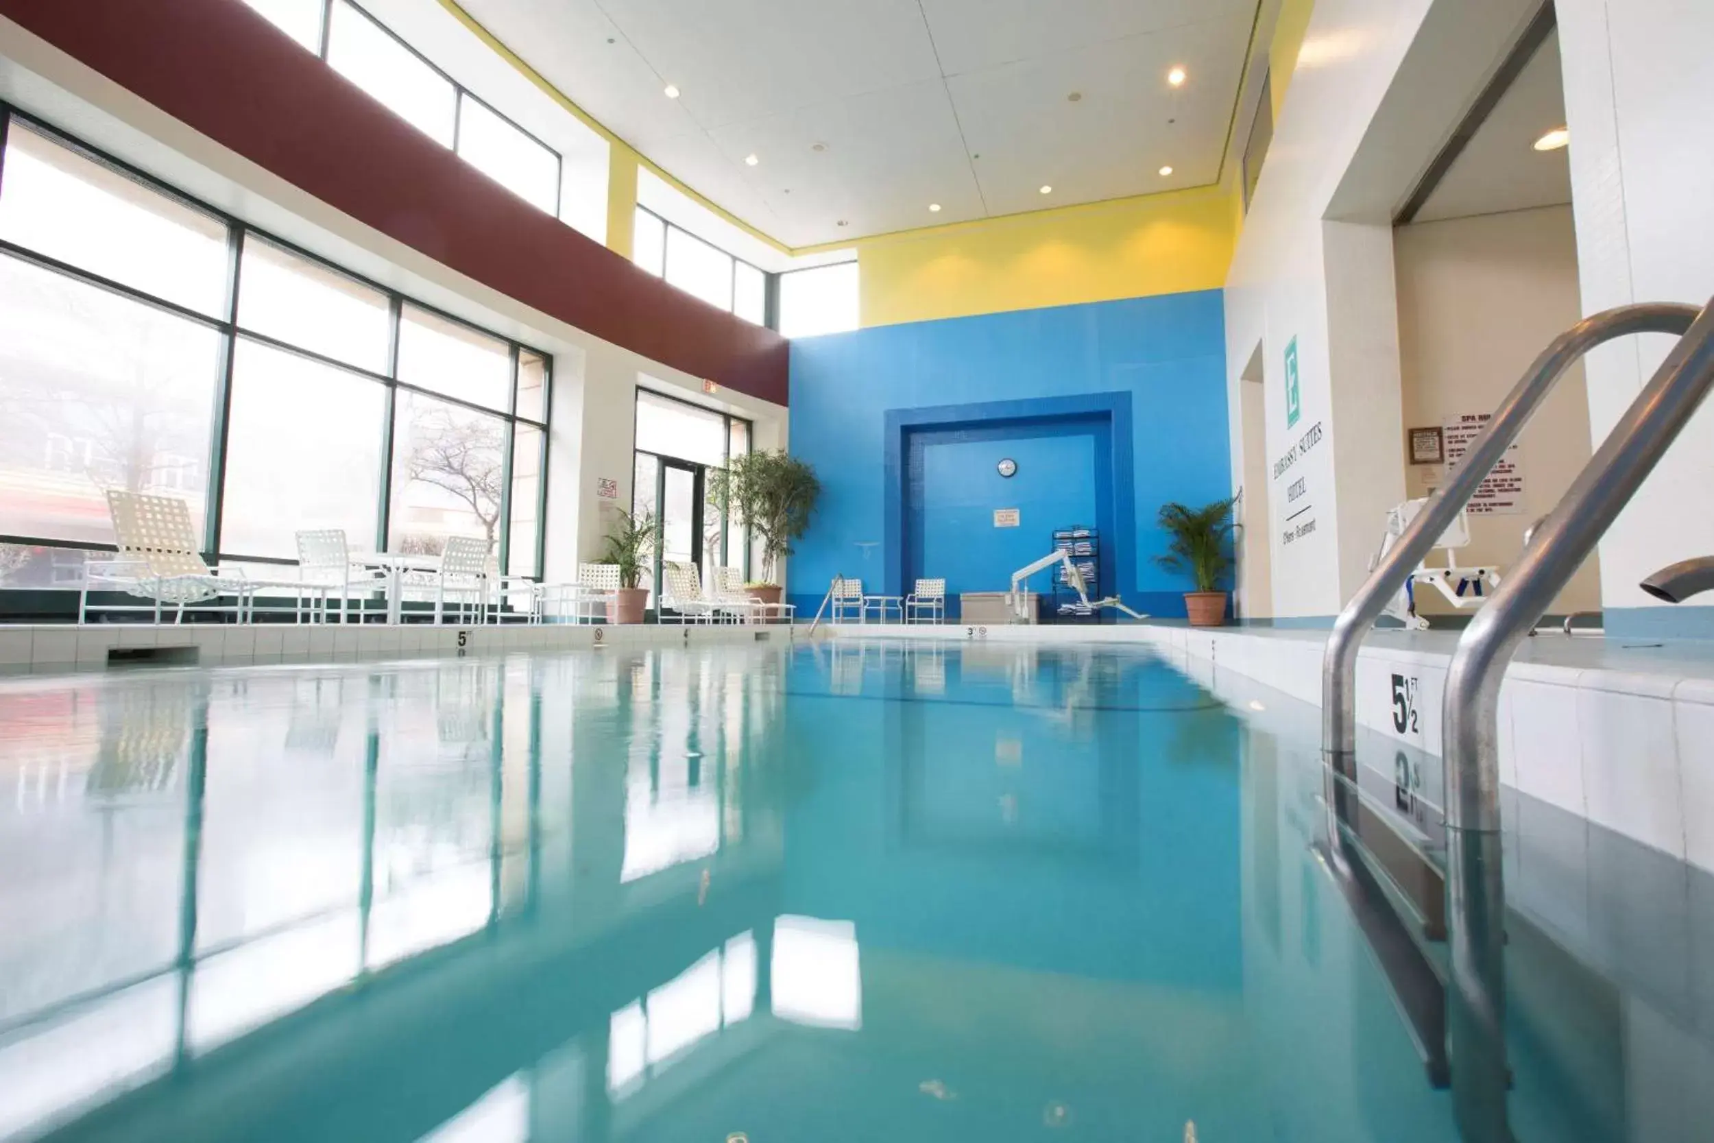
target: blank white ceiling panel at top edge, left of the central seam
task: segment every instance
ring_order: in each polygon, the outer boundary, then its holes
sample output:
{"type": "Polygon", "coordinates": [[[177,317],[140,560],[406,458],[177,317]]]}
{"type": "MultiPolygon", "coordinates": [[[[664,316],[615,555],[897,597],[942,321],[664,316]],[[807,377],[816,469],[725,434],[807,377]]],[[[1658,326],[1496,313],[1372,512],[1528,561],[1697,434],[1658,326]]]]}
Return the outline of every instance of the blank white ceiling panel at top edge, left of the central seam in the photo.
{"type": "Polygon", "coordinates": [[[600,0],[704,129],[939,79],[917,0],[600,0]]]}

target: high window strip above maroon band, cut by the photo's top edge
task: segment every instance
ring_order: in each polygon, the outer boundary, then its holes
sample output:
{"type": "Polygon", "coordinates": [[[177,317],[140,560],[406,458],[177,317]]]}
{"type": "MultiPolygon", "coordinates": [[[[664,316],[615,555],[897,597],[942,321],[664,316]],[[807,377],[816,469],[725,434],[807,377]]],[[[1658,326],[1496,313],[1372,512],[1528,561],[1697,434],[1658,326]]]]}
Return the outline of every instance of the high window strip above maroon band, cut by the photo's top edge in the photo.
{"type": "Polygon", "coordinates": [[[351,0],[243,0],[389,111],[524,202],[560,212],[560,156],[351,0]],[[324,26],[326,21],[326,26],[324,26]]]}

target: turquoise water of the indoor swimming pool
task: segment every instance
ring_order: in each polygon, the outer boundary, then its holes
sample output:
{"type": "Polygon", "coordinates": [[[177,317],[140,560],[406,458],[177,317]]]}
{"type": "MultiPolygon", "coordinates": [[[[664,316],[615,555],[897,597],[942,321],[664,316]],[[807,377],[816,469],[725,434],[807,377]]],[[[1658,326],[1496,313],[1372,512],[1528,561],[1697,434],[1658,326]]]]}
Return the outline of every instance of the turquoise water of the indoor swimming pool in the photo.
{"type": "MultiPolygon", "coordinates": [[[[1452,1143],[1315,711],[1234,685],[857,639],[0,680],[0,1140],[1452,1143]]],[[[1709,877],[1507,812],[1517,1136],[1709,1138],[1709,877]]]]}

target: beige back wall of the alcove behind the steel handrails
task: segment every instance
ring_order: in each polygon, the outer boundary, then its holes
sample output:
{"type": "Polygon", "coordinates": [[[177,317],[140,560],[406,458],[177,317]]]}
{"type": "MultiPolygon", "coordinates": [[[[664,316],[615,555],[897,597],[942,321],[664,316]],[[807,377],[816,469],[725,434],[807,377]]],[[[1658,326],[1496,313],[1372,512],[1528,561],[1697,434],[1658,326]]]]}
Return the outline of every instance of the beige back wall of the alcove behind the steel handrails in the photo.
{"type": "MultiPolygon", "coordinates": [[[[1400,226],[1395,262],[1407,425],[1491,411],[1536,355],[1580,317],[1568,206],[1400,226]]],[[[1560,502],[1589,461],[1582,380],[1575,367],[1519,439],[1525,512],[1471,516],[1471,547],[1459,554],[1460,564],[1513,564],[1524,530],[1560,502]]],[[[1411,466],[1409,494],[1428,495],[1443,473],[1438,464],[1411,466]]],[[[1424,612],[1452,610],[1433,591],[1417,603],[1424,612]]],[[[1551,610],[1599,607],[1601,576],[1589,560],[1551,610]]]]}

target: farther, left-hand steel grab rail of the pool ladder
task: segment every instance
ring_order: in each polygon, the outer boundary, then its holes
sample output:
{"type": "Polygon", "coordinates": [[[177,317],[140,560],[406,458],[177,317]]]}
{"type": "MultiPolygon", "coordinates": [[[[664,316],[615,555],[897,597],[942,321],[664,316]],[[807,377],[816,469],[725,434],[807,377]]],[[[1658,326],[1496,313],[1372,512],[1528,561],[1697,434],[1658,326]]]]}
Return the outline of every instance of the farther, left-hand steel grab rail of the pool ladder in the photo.
{"type": "MultiPolygon", "coordinates": [[[[1517,387],[1495,410],[1488,427],[1471,446],[1399,543],[1381,557],[1375,572],[1357,588],[1357,593],[1333,620],[1333,634],[1327,641],[1321,661],[1321,749],[1335,769],[1349,775],[1351,754],[1357,739],[1357,649],[1363,636],[1387,608],[1387,600],[1404,588],[1405,577],[1423,562],[1459,511],[1476,495],[1507,447],[1517,440],[1524,425],[1553,391],[1560,377],[1585,353],[1604,341],[1627,334],[1663,332],[1683,334],[1697,317],[1693,305],[1621,305],[1604,310],[1572,326],[1536,358],[1517,387]]],[[[1491,603],[1489,603],[1491,607],[1491,603]]],[[[1486,610],[1486,608],[1483,608],[1486,610]]]]}

